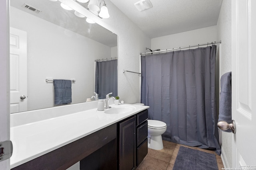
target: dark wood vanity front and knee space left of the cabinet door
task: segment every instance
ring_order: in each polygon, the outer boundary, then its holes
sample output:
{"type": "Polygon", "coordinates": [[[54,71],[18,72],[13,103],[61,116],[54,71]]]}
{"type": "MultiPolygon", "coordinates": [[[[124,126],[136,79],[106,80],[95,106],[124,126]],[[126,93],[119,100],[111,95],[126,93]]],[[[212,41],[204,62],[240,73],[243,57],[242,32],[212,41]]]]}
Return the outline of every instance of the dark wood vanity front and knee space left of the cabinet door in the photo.
{"type": "Polygon", "coordinates": [[[80,170],[116,170],[116,123],[12,170],[66,170],[80,161],[80,170]]]}

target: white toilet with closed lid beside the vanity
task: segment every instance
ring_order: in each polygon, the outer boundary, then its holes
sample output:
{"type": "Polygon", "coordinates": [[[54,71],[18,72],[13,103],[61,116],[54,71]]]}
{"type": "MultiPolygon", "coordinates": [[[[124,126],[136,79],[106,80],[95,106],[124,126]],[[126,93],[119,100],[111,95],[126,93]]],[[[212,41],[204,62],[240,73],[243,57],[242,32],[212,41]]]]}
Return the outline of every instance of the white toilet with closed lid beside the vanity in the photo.
{"type": "Polygon", "coordinates": [[[161,150],[164,148],[162,134],[166,131],[166,123],[158,120],[148,120],[148,148],[161,150]]]}

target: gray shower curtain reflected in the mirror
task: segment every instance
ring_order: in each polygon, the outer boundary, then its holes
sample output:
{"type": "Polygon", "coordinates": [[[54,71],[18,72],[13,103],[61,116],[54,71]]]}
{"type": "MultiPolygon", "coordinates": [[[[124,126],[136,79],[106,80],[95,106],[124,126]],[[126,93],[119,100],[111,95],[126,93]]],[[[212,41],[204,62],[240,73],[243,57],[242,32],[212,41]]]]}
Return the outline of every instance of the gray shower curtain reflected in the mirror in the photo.
{"type": "Polygon", "coordinates": [[[106,94],[117,96],[117,59],[110,61],[96,61],[95,92],[99,99],[106,98],[106,94]]]}

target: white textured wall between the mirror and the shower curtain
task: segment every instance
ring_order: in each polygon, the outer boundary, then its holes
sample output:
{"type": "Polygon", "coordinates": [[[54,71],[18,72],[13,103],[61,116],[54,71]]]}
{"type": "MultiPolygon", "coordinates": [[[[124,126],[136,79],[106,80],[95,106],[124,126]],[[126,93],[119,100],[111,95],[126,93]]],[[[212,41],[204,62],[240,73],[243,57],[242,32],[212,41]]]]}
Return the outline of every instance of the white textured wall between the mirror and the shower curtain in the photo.
{"type": "Polygon", "coordinates": [[[140,77],[138,74],[122,70],[140,72],[140,53],[150,47],[147,37],[116,6],[106,0],[110,18],[100,20],[99,24],[118,35],[118,96],[124,103],[140,102],[140,77]]]}

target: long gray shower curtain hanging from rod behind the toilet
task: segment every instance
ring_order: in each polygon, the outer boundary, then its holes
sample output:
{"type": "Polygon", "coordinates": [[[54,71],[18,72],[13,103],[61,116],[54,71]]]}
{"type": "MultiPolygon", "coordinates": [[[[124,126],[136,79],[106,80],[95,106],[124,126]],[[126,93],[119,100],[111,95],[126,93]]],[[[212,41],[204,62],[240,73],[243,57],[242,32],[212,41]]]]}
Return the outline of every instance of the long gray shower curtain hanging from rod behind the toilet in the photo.
{"type": "Polygon", "coordinates": [[[215,58],[216,45],[141,57],[141,102],[167,124],[163,139],[220,154],[215,58]]]}

